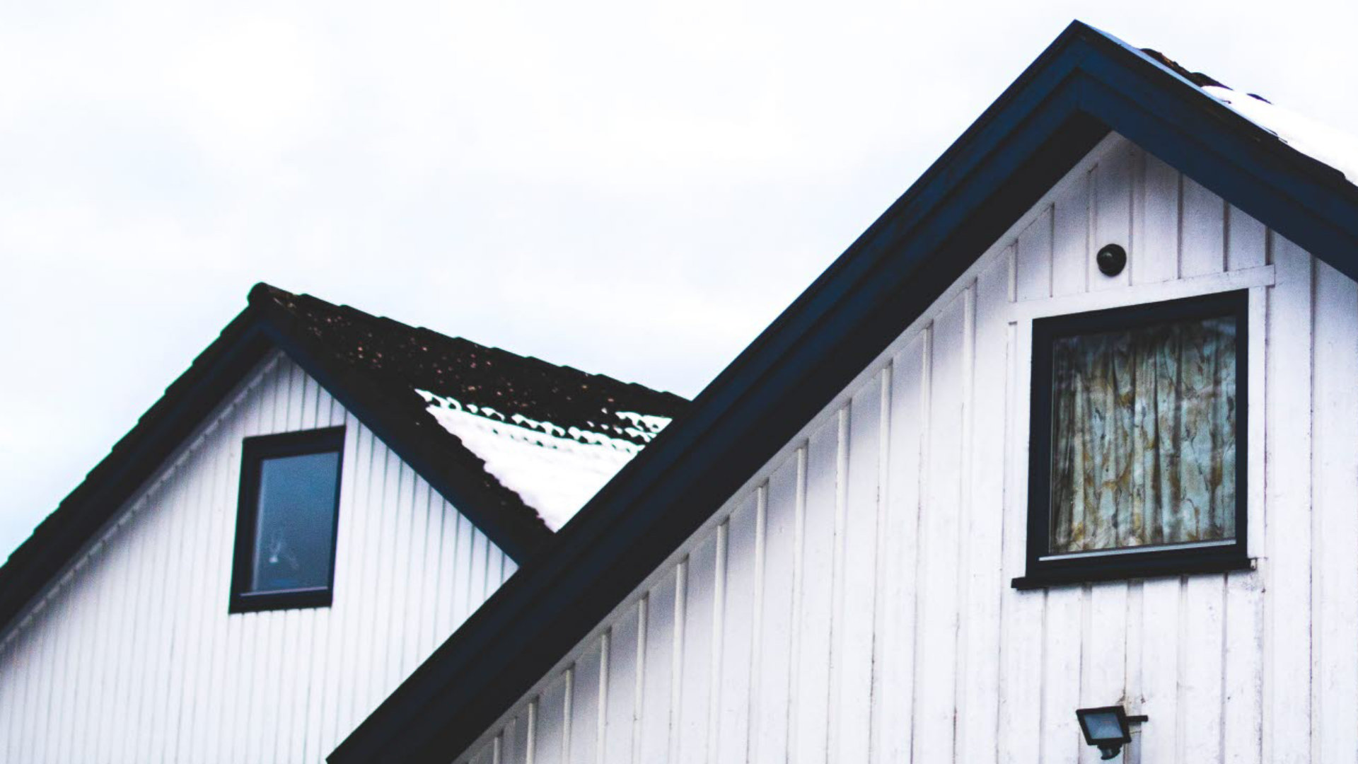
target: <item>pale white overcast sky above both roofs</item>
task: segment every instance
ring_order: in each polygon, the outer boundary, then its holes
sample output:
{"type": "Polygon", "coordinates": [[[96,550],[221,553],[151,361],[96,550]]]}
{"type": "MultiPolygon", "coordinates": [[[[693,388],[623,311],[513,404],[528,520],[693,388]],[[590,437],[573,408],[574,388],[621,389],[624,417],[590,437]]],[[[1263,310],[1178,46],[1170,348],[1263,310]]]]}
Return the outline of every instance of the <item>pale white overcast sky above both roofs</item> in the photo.
{"type": "Polygon", "coordinates": [[[0,1],[0,556],[259,280],[695,394],[1076,16],[1358,129],[1351,1],[0,1]]]}

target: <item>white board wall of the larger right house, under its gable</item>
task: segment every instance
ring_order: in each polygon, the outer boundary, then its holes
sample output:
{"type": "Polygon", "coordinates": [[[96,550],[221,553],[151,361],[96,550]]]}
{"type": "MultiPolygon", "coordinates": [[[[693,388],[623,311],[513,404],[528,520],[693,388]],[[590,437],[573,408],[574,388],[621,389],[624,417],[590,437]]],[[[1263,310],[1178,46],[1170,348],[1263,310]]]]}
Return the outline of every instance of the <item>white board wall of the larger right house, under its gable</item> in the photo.
{"type": "Polygon", "coordinates": [[[1109,136],[458,761],[1355,761],[1355,379],[1358,285],[1109,136]],[[1258,571],[1010,589],[1031,321],[1244,287],[1258,571]]]}

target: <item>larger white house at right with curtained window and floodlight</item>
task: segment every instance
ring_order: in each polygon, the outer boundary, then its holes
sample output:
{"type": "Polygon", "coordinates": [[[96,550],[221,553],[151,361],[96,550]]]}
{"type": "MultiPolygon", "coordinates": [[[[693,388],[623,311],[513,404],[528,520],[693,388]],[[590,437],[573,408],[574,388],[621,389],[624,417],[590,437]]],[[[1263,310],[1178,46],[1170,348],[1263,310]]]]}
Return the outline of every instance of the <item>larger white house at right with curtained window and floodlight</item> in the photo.
{"type": "Polygon", "coordinates": [[[1073,23],[329,761],[1353,760],[1355,156],[1073,23]]]}

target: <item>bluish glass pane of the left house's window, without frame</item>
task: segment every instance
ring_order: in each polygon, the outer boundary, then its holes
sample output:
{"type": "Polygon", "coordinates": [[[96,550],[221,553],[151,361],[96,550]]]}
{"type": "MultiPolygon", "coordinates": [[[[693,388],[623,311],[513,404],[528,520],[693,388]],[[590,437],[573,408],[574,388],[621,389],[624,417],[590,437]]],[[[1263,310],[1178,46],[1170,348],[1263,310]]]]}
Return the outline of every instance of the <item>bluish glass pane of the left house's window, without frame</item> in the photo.
{"type": "Polygon", "coordinates": [[[251,591],[330,585],[337,451],[259,462],[251,591]]]}

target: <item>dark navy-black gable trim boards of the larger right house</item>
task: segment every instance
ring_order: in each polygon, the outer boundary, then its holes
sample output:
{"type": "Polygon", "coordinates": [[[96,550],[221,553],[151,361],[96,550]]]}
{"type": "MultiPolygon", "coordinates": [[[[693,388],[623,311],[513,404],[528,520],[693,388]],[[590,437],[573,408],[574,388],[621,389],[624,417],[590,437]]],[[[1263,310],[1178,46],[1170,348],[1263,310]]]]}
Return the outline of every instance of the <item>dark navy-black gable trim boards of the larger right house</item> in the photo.
{"type": "Polygon", "coordinates": [[[1139,50],[1071,23],[330,761],[460,753],[1109,129],[1358,275],[1358,189],[1139,50]]]}

